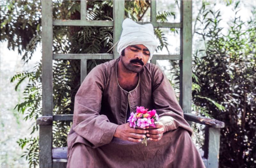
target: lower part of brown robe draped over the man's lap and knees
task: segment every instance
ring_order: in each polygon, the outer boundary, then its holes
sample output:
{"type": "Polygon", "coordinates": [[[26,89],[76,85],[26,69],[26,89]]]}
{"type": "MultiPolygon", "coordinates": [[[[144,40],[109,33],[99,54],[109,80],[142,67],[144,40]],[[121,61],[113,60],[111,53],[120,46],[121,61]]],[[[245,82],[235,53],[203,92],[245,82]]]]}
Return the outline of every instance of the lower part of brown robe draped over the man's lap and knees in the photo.
{"type": "Polygon", "coordinates": [[[145,144],[119,138],[98,148],[76,143],[70,151],[68,168],[205,168],[187,130],[177,128],[164,133],[158,142],[145,144]],[[75,165],[75,166],[74,166],[75,165]]]}

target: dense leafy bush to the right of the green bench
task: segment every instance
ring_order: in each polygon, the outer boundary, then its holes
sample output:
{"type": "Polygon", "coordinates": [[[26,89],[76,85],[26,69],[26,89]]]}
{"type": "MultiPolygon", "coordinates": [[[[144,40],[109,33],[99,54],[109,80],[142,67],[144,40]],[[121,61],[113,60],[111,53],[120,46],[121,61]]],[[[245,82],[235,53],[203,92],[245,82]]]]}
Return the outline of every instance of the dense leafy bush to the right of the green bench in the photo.
{"type": "Polygon", "coordinates": [[[249,22],[243,22],[237,16],[239,1],[234,6],[236,15],[226,34],[219,26],[220,11],[203,7],[196,33],[205,46],[193,60],[193,71],[201,86],[200,92],[193,91],[194,103],[205,106],[226,125],[221,129],[220,142],[223,168],[250,167],[255,165],[256,157],[256,12],[249,22]],[[213,102],[209,104],[203,97],[213,102]],[[221,103],[216,106],[216,102],[221,103]]]}

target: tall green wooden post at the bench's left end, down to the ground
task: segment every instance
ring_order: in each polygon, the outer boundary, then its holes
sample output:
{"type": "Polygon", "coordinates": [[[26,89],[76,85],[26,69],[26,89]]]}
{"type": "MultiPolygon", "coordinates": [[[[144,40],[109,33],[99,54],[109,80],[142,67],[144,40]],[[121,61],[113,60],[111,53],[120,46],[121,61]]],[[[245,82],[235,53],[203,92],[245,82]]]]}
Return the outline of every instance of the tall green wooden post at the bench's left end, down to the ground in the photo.
{"type": "MultiPolygon", "coordinates": [[[[42,2],[42,115],[51,116],[52,97],[52,1],[42,2]]],[[[52,125],[39,126],[39,166],[52,167],[52,125]]]]}

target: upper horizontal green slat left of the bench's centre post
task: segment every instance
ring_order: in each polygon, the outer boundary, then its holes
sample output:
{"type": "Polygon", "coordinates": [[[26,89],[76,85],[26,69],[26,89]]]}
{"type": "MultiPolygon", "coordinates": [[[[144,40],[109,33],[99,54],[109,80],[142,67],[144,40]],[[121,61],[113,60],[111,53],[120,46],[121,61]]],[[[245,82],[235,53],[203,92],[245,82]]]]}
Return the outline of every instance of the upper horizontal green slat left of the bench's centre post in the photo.
{"type": "Polygon", "coordinates": [[[114,26],[108,20],[53,20],[54,26],[114,26]]]}

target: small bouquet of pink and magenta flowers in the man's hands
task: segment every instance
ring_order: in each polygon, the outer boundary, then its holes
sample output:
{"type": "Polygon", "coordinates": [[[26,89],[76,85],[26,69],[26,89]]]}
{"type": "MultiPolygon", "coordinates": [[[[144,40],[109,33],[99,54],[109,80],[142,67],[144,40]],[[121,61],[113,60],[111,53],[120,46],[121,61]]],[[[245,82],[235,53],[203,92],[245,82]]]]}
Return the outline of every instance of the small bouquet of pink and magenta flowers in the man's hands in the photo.
{"type": "MultiPolygon", "coordinates": [[[[131,113],[129,117],[130,127],[135,128],[145,128],[148,126],[156,127],[155,122],[159,120],[159,117],[156,113],[156,110],[149,110],[143,106],[137,106],[136,113],[131,113]]],[[[145,143],[147,146],[147,137],[143,139],[142,143],[145,143]]]]}

